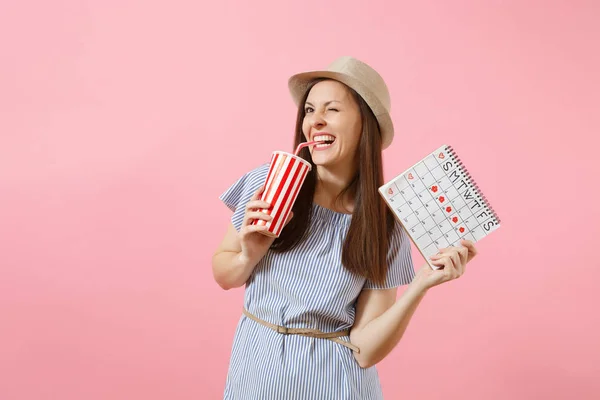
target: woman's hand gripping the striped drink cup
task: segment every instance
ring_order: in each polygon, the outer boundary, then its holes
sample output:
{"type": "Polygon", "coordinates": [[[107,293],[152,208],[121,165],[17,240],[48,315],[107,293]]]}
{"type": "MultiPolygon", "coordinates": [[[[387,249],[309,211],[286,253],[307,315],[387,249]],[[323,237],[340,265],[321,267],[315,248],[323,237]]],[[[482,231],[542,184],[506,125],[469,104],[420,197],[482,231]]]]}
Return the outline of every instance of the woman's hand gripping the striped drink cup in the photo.
{"type": "MultiPolygon", "coordinates": [[[[239,232],[240,245],[242,251],[240,252],[240,261],[244,265],[256,265],[261,258],[269,250],[271,244],[275,241],[275,237],[263,235],[262,232],[267,231],[267,227],[263,225],[253,225],[255,220],[270,221],[273,219],[269,214],[261,212],[262,209],[268,209],[271,205],[267,202],[261,201],[260,195],[264,191],[264,186],[258,188],[250,201],[246,204],[246,214],[239,232]]],[[[292,218],[288,217],[285,224],[287,224],[292,218]]]]}

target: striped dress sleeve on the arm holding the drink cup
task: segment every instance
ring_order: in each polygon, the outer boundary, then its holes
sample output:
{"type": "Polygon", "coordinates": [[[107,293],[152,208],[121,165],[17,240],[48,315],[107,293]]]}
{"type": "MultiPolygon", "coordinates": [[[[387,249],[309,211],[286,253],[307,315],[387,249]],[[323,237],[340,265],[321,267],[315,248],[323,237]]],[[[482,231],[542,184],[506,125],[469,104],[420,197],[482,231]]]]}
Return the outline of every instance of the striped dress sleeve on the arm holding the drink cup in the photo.
{"type": "Polygon", "coordinates": [[[233,211],[231,223],[238,232],[242,227],[244,215],[246,214],[246,203],[250,201],[254,192],[265,183],[268,172],[269,164],[263,164],[244,174],[219,196],[219,199],[233,211]]]}

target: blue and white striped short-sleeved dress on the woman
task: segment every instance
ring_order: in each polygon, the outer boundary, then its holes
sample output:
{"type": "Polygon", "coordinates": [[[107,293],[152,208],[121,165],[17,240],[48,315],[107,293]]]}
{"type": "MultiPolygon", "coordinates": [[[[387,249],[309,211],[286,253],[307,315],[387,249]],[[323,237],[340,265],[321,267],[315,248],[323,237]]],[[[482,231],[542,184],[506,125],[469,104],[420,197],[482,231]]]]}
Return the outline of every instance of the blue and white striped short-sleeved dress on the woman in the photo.
{"type": "MultiPolygon", "coordinates": [[[[239,231],[246,203],[267,176],[261,165],[235,182],[220,199],[234,211],[239,231]]],[[[244,307],[258,318],[288,328],[323,332],[349,329],[361,290],[408,284],[414,276],[408,236],[396,222],[390,237],[388,275],[376,285],[348,272],[341,262],[351,215],[314,204],[309,234],[293,250],[268,251],[244,294],[244,307]]],[[[241,307],[240,307],[241,311],[241,307]]],[[[348,336],[340,339],[349,341],[348,336]]],[[[243,314],[235,332],[225,399],[382,399],[375,366],[361,368],[339,343],[282,335],[243,314]]]]}

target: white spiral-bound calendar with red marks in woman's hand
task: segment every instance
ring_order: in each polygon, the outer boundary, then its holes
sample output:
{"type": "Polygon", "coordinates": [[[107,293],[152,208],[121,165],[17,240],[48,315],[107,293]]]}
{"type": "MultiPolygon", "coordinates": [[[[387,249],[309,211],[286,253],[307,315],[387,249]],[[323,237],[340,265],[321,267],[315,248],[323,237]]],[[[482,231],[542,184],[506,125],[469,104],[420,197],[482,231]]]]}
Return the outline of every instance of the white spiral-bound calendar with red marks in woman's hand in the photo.
{"type": "Polygon", "coordinates": [[[452,146],[443,145],[379,188],[427,263],[439,249],[478,242],[500,218],[452,146]]]}

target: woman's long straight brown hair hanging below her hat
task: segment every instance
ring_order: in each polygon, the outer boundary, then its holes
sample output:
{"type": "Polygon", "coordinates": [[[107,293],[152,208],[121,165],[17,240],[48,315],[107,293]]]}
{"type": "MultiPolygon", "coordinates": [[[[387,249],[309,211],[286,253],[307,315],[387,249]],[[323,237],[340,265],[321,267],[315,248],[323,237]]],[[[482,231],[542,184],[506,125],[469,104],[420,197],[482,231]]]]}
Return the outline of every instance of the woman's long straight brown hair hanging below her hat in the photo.
{"type": "MultiPolygon", "coordinates": [[[[299,102],[294,148],[306,141],[302,132],[302,122],[306,115],[304,103],[312,87],[323,80],[325,79],[311,82],[299,102]]],[[[394,216],[377,191],[384,183],[381,134],[371,108],[352,88],[346,88],[359,106],[362,134],[357,154],[358,172],[336,199],[340,200],[345,194],[354,197],[352,220],[342,248],[342,264],[353,273],[375,283],[383,283],[387,273],[388,236],[394,226],[394,216]]],[[[304,238],[311,223],[317,168],[307,147],[303,148],[299,155],[310,162],[313,168],[307,175],[292,208],[294,218],[271,246],[274,251],[286,251],[295,247],[304,238]]]]}

